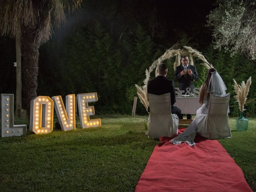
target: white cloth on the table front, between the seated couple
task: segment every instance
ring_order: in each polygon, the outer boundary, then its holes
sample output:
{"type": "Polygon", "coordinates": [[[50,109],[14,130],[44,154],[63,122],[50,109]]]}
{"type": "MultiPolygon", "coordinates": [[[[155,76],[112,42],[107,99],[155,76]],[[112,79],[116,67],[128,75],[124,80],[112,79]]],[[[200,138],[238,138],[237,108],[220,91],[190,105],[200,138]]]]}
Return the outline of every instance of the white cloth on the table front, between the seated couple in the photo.
{"type": "Polygon", "coordinates": [[[202,105],[198,97],[176,97],[174,106],[180,108],[182,114],[196,114],[202,105]]]}

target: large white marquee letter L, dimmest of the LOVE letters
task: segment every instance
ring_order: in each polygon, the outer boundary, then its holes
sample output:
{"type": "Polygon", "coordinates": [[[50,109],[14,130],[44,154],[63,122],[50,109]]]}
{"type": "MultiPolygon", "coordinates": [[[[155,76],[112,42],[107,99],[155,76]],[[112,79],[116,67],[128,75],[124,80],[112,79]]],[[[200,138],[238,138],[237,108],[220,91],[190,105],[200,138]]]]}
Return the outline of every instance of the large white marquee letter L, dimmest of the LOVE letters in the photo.
{"type": "Polygon", "coordinates": [[[1,137],[26,134],[26,125],[14,125],[14,94],[1,94],[1,137]]]}

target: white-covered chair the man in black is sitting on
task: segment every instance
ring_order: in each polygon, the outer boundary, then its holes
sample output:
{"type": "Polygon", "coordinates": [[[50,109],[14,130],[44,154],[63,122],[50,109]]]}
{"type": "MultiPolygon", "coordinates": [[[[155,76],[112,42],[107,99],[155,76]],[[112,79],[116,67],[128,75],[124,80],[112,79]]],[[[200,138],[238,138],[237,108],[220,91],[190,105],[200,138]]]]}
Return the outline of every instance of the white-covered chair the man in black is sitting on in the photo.
{"type": "Polygon", "coordinates": [[[154,139],[159,137],[173,137],[178,134],[179,118],[172,114],[170,93],[162,95],[148,94],[150,115],[148,117],[148,136],[154,139]]]}

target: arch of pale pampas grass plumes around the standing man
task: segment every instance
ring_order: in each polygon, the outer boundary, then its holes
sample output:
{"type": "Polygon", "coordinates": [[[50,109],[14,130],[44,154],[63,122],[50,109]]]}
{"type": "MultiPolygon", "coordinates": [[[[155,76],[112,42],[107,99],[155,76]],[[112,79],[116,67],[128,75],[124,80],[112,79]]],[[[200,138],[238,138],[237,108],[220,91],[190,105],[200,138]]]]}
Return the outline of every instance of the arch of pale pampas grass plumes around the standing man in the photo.
{"type": "Polygon", "coordinates": [[[149,106],[147,84],[150,78],[150,73],[154,70],[154,68],[156,68],[155,75],[157,76],[158,65],[164,60],[172,57],[176,58],[173,65],[173,68],[175,70],[176,67],[180,65],[181,56],[183,55],[187,55],[189,57],[190,65],[194,65],[193,57],[197,57],[199,60],[202,61],[202,63],[200,63],[202,66],[205,66],[207,69],[213,68],[212,64],[210,64],[199,51],[192,49],[189,46],[183,46],[182,50],[180,49],[176,50],[172,48],[168,49],[162,56],[160,56],[157,60],[155,60],[148,69],[146,69],[146,78],[143,80],[144,85],[140,87],[135,84],[137,88],[138,97],[140,98],[140,102],[144,105],[146,109],[148,109],[148,106],[149,106]]]}

